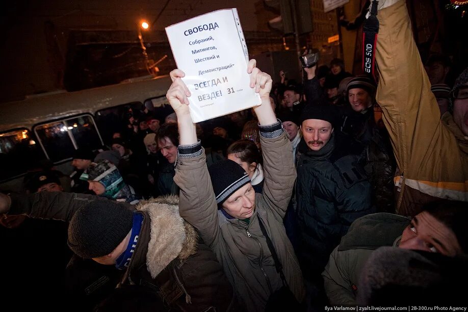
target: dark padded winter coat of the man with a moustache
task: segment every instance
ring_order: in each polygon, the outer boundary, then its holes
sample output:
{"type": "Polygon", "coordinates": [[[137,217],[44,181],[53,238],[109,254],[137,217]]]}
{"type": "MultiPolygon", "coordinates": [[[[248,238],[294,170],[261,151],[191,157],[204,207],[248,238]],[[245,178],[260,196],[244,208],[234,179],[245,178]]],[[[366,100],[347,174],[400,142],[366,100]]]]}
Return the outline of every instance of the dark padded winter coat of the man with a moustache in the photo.
{"type": "Polygon", "coordinates": [[[356,146],[340,136],[336,136],[334,144],[331,154],[322,159],[311,155],[304,140],[298,147],[299,258],[303,265],[307,264],[303,266],[303,271],[308,270],[306,276],[320,274],[351,223],[374,212],[371,185],[361,158],[354,153],[356,146]]]}

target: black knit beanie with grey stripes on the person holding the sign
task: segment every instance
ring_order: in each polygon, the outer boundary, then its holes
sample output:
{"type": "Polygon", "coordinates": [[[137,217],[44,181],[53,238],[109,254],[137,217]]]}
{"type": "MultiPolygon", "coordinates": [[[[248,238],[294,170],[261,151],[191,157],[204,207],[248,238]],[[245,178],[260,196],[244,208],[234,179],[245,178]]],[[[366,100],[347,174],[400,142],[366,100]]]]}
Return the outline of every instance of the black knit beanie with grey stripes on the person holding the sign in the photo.
{"type": "Polygon", "coordinates": [[[208,168],[216,202],[221,205],[232,193],[250,182],[244,168],[234,161],[223,160],[208,168]]]}

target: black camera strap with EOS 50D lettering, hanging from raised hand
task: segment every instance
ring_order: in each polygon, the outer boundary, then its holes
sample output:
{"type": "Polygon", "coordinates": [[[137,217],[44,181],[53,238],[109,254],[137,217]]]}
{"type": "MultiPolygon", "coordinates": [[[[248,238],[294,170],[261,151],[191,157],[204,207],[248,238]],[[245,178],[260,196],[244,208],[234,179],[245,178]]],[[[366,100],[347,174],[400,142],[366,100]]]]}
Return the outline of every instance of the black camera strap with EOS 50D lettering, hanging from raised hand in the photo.
{"type": "Polygon", "coordinates": [[[379,33],[379,20],[377,19],[378,1],[373,0],[371,4],[371,15],[364,22],[362,28],[362,70],[374,75],[375,66],[375,44],[379,33]]]}

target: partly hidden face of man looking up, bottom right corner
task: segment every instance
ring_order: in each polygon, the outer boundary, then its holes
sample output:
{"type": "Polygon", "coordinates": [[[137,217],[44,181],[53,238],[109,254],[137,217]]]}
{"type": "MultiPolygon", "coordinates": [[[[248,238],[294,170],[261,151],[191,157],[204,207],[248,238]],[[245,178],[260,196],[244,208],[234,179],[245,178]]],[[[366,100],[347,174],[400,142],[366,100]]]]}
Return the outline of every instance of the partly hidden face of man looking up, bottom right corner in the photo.
{"type": "Polygon", "coordinates": [[[438,252],[447,256],[462,253],[455,233],[425,211],[416,215],[403,230],[399,247],[438,252]]]}

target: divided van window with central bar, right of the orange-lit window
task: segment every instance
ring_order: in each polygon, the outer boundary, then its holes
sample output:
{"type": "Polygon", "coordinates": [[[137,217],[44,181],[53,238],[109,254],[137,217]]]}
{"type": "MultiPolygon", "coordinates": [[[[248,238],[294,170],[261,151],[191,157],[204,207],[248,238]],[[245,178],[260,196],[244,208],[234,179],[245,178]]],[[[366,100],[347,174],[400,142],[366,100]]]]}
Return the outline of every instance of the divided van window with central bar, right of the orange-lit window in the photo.
{"type": "Polygon", "coordinates": [[[40,124],[33,129],[47,157],[54,163],[70,159],[76,148],[98,149],[102,146],[90,115],[40,124]]]}

